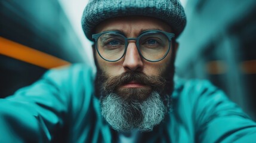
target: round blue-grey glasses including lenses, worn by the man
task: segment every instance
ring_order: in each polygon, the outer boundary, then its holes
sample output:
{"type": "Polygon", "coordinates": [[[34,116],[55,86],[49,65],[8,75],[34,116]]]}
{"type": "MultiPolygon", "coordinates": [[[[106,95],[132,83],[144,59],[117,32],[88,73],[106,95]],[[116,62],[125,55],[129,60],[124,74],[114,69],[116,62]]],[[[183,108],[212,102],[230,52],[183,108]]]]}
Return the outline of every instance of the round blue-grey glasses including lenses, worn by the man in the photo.
{"type": "Polygon", "coordinates": [[[163,60],[171,49],[174,33],[161,30],[147,30],[137,38],[127,38],[121,32],[107,31],[92,35],[95,48],[101,58],[115,62],[124,57],[128,41],[135,41],[138,53],[145,60],[157,62],[163,60]]]}

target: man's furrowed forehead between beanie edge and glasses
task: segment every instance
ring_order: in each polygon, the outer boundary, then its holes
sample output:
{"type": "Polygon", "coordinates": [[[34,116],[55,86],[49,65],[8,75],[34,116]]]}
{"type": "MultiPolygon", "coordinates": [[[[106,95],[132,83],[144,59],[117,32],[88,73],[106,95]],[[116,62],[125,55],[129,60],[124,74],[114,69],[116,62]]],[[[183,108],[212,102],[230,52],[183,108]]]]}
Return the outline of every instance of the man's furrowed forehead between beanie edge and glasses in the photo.
{"type": "Polygon", "coordinates": [[[98,24],[95,33],[119,30],[130,36],[137,36],[144,30],[163,30],[172,32],[171,27],[162,20],[153,17],[127,16],[110,18],[98,24]]]}

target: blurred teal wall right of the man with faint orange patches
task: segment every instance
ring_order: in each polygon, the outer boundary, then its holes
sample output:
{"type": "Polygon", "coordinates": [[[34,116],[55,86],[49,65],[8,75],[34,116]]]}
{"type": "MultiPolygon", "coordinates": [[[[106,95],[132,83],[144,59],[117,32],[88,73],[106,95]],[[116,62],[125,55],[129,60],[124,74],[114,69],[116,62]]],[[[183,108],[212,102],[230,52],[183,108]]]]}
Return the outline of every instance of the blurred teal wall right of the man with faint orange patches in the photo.
{"type": "Polygon", "coordinates": [[[177,74],[209,79],[256,119],[256,1],[188,0],[177,74]]]}

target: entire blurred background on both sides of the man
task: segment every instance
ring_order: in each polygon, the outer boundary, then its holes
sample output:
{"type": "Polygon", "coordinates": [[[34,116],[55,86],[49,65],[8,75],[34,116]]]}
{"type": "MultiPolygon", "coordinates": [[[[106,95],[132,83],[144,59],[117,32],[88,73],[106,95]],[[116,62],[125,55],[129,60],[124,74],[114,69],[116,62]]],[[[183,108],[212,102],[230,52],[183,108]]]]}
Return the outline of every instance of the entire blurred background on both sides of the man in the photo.
{"type": "MultiPolygon", "coordinates": [[[[0,98],[48,69],[86,63],[85,0],[0,0],[0,98]]],[[[209,79],[256,119],[256,1],[181,0],[187,26],[178,38],[177,74],[209,79]]]]}

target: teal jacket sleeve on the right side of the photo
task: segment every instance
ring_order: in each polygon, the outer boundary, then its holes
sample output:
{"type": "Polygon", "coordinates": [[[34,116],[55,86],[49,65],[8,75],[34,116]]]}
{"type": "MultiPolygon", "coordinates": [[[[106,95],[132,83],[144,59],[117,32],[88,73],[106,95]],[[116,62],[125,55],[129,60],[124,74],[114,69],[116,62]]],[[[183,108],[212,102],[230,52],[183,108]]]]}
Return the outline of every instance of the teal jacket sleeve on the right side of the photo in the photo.
{"type": "Polygon", "coordinates": [[[256,124],[224,92],[204,81],[196,86],[196,142],[256,142],[256,124]]]}

